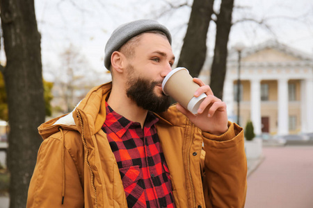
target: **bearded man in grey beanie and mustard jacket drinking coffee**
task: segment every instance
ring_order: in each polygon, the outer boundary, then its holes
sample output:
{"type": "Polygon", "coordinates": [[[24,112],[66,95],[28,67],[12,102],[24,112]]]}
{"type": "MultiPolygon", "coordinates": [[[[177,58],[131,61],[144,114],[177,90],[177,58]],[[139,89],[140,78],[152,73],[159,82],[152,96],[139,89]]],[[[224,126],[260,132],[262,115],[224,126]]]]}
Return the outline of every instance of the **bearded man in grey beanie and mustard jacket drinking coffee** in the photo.
{"type": "Polygon", "coordinates": [[[195,96],[207,94],[198,114],[169,107],[161,83],[175,60],[170,43],[147,19],[113,32],[104,58],[112,83],[40,125],[28,207],[244,206],[243,130],[197,78],[195,96]]]}

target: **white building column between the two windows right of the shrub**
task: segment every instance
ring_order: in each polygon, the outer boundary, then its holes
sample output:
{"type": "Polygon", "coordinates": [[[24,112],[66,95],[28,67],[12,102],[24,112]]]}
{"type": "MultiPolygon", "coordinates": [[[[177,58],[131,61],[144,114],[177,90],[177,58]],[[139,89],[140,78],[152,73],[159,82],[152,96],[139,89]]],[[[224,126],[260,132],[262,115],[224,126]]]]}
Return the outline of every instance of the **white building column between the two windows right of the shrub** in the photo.
{"type": "Polygon", "coordinates": [[[288,80],[278,80],[278,135],[289,133],[288,80]]]}

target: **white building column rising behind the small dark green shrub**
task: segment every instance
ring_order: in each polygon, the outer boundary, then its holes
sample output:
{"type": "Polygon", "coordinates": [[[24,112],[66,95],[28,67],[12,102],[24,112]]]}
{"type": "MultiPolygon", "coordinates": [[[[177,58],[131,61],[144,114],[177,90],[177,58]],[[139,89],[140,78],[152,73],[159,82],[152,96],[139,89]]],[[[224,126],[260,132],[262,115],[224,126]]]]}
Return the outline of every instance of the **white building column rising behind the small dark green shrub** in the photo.
{"type": "Polygon", "coordinates": [[[257,79],[250,80],[250,85],[250,119],[253,123],[255,135],[261,135],[261,81],[257,79]]]}

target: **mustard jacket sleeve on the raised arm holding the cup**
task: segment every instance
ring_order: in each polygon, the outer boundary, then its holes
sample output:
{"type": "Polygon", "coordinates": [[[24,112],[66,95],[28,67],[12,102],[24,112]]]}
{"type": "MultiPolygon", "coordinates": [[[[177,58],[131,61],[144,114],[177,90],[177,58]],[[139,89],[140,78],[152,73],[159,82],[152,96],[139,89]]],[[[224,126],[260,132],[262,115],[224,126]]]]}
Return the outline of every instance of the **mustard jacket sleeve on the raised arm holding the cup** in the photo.
{"type": "Polygon", "coordinates": [[[247,190],[247,162],[243,129],[228,123],[223,135],[204,136],[203,189],[206,207],[244,207],[247,190]]]}

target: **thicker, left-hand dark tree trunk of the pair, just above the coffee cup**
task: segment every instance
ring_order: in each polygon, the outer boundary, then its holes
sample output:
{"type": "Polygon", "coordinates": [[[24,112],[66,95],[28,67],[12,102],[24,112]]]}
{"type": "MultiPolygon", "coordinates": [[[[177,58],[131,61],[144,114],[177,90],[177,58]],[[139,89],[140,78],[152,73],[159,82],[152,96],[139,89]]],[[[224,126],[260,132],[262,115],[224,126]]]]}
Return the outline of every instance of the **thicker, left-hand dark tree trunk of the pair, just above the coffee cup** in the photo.
{"type": "Polygon", "coordinates": [[[214,0],[194,0],[184,44],[177,67],[186,67],[198,77],[207,56],[207,31],[213,14],[214,0]]]}

